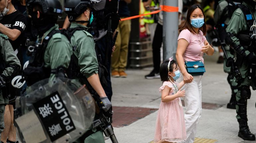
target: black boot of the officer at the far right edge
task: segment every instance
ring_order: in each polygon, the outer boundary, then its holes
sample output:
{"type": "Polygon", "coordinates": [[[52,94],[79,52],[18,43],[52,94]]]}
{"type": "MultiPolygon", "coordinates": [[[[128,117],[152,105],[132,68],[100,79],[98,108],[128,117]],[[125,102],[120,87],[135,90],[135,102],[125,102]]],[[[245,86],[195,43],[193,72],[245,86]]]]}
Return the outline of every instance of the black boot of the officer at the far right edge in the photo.
{"type": "Polygon", "coordinates": [[[252,134],[247,125],[247,119],[238,119],[239,123],[239,132],[238,136],[243,140],[255,140],[255,135],[252,134]]]}

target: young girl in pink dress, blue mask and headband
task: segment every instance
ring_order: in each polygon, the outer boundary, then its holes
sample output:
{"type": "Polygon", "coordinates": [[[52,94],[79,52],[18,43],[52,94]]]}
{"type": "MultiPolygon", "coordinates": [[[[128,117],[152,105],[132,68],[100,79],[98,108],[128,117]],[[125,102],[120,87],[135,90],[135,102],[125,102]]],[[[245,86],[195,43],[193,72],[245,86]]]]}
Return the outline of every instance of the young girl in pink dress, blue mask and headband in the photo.
{"type": "Polygon", "coordinates": [[[164,61],[160,67],[160,77],[163,86],[155,131],[155,142],[172,143],[186,139],[186,126],[180,97],[185,96],[185,90],[180,89],[184,81],[177,84],[174,80],[180,77],[178,65],[173,58],[164,61]]]}

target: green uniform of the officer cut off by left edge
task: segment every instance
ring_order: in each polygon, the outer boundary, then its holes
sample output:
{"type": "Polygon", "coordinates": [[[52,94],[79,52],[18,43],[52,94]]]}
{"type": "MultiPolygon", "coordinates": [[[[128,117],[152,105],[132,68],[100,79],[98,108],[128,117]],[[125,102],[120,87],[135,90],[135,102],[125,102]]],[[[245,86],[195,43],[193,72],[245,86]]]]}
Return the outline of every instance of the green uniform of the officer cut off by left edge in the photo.
{"type": "MultiPolygon", "coordinates": [[[[8,41],[8,36],[4,34],[0,34],[0,51],[1,51],[1,61],[4,61],[4,65],[6,64],[4,69],[1,69],[1,83],[2,78],[4,82],[10,82],[12,77],[15,73],[18,72],[18,69],[21,68],[20,61],[14,50],[8,41]]],[[[1,66],[3,64],[1,63],[1,66]]],[[[4,130],[4,112],[5,112],[5,105],[8,104],[8,97],[4,95],[3,88],[0,89],[0,133],[4,130]]]]}

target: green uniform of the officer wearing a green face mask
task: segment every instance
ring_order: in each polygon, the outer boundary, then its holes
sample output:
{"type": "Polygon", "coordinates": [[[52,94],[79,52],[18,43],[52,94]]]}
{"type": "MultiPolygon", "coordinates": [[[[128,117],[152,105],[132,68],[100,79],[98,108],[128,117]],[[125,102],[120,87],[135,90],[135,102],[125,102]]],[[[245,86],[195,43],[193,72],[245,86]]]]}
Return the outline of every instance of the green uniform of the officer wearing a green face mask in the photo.
{"type": "MultiPolygon", "coordinates": [[[[83,75],[81,76],[81,78],[79,78],[79,82],[81,82],[81,84],[86,84],[88,87],[89,85],[86,79],[92,76],[93,74],[98,73],[98,61],[95,52],[95,44],[92,35],[86,31],[88,27],[78,24],[76,22],[72,22],[70,28],[76,27],[80,27],[84,30],[76,30],[73,36],[71,37],[70,42],[72,47],[76,47],[76,49],[73,51],[73,54],[78,59],[80,73],[83,75]]],[[[86,138],[79,138],[74,143],[105,142],[102,130],[98,131],[95,128],[90,128],[88,130],[92,130],[93,133],[86,138]]]]}

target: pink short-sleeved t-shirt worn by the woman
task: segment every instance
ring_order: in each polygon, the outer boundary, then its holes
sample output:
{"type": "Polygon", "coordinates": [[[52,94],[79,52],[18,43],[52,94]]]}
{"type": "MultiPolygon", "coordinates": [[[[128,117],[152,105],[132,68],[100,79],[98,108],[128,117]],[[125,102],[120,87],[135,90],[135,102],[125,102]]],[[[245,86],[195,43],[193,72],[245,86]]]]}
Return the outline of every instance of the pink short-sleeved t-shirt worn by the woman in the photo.
{"type": "Polygon", "coordinates": [[[199,31],[198,34],[193,34],[188,29],[181,31],[178,41],[180,39],[185,39],[189,42],[189,45],[183,55],[185,61],[198,61],[203,60],[203,53],[201,53],[202,46],[204,46],[204,41],[206,40],[202,31],[199,31]]]}

